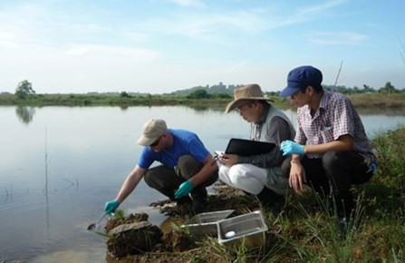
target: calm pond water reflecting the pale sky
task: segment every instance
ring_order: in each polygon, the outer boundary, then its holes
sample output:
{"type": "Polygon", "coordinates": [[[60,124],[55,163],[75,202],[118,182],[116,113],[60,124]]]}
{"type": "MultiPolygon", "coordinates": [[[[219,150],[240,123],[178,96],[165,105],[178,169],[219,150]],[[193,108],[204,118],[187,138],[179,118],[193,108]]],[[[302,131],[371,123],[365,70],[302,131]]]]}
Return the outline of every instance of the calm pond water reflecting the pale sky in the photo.
{"type": "MultiPolygon", "coordinates": [[[[371,137],[405,123],[404,112],[361,117],[371,137]]],[[[136,141],[150,118],[197,132],[210,151],[249,134],[248,123],[222,109],[0,107],[0,261],[105,262],[106,239],[87,226],[138,161],[136,141]]],[[[164,199],[141,181],[121,209],[146,212],[159,225],[164,216],[149,203],[164,199]]]]}

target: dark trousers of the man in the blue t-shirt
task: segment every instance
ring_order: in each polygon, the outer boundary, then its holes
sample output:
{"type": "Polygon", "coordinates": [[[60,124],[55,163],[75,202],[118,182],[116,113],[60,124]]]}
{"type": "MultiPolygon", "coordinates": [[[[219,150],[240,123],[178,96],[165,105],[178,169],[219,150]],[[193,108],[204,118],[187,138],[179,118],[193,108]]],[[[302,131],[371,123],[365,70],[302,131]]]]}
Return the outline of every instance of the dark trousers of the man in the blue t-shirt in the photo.
{"type": "MultiPolygon", "coordinates": [[[[202,167],[202,163],[198,162],[191,155],[183,155],[178,159],[178,165],[175,169],[159,165],[147,170],[144,179],[149,187],[159,190],[159,192],[169,197],[170,200],[174,200],[174,193],[178,190],[178,186],[196,175],[202,167]]],[[[193,199],[207,198],[206,187],[213,184],[217,178],[218,173],[213,173],[208,180],[191,191],[191,197],[193,199]]]]}

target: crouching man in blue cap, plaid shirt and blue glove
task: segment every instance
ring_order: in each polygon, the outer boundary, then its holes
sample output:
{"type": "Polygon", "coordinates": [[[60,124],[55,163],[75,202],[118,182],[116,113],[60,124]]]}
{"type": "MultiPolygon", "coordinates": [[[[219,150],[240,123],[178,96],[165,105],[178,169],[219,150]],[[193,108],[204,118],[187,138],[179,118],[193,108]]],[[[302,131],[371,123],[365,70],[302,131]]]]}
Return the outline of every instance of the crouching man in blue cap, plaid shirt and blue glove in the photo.
{"type": "Polygon", "coordinates": [[[351,185],[371,179],[376,158],[352,102],[323,90],[322,81],[321,71],[310,65],[288,73],[280,96],[291,96],[298,106],[297,127],[294,141],[284,141],[280,148],[291,155],[282,169],[295,192],[308,184],[328,195],[332,187],[342,231],[354,215],[351,185]]]}

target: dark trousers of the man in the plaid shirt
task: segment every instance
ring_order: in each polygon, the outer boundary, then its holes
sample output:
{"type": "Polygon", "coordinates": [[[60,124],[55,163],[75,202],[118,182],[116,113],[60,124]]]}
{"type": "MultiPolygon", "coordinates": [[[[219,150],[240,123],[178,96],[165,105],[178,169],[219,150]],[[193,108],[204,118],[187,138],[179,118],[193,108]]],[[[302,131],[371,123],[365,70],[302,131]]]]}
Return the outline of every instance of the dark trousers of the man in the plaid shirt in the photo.
{"type": "MultiPolygon", "coordinates": [[[[285,175],[289,176],[291,157],[282,165],[285,175]]],[[[372,177],[372,170],[361,155],[353,151],[329,151],[322,158],[301,160],[306,174],[306,182],[313,189],[329,195],[331,187],[339,217],[349,218],[354,209],[352,184],[362,184],[372,177]]]]}

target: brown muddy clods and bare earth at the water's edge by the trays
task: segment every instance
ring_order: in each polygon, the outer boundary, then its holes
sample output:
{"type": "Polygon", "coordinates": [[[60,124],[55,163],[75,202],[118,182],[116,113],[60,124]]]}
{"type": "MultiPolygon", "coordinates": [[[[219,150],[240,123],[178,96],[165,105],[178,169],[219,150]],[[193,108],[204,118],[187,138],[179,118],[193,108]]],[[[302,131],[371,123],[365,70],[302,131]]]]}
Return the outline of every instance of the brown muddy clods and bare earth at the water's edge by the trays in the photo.
{"type": "MultiPolygon", "coordinates": [[[[200,248],[203,239],[209,237],[191,235],[179,227],[194,216],[191,203],[176,206],[170,200],[161,200],[150,206],[168,216],[166,224],[160,227],[150,225],[147,214],[131,214],[125,219],[107,222],[105,230],[110,236],[107,240],[108,262],[191,262],[191,258],[199,258],[199,262],[201,258],[207,262],[222,262],[218,258],[209,258],[209,253],[200,248]]],[[[206,212],[225,209],[235,209],[232,216],[236,216],[259,209],[259,203],[255,197],[240,190],[217,184],[215,194],[208,195],[206,212]]]]}

